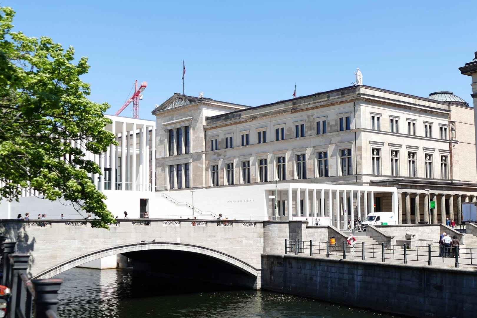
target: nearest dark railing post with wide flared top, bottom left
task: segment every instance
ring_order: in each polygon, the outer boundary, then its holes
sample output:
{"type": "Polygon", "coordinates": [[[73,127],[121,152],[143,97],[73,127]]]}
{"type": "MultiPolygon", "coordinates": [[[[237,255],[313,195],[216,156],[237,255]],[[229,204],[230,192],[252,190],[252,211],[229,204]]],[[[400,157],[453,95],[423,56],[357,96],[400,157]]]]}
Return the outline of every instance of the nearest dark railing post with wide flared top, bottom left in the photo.
{"type": "Polygon", "coordinates": [[[33,288],[35,289],[35,317],[47,318],[46,311],[52,310],[56,313],[56,305],[58,304],[58,290],[62,279],[33,279],[33,288]]]}

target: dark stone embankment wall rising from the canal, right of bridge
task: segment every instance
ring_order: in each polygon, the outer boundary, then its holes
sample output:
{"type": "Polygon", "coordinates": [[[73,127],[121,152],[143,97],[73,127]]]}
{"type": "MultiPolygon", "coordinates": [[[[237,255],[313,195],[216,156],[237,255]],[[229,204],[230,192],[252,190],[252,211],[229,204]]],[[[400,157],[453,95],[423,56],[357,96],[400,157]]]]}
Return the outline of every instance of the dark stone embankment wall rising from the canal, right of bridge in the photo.
{"type": "Polygon", "coordinates": [[[477,273],[452,267],[263,254],[262,288],[414,317],[477,313],[477,273]]]}

